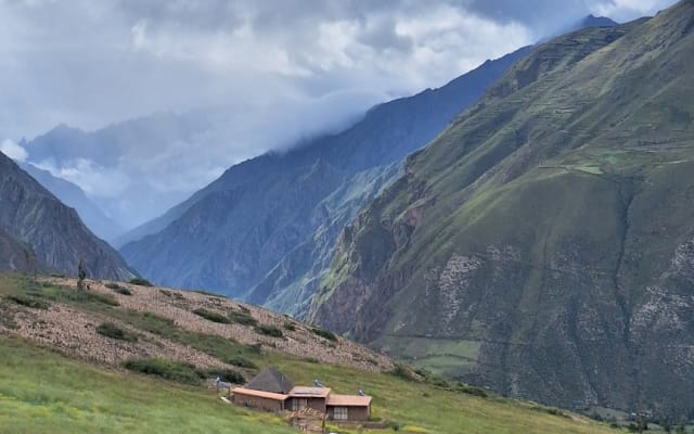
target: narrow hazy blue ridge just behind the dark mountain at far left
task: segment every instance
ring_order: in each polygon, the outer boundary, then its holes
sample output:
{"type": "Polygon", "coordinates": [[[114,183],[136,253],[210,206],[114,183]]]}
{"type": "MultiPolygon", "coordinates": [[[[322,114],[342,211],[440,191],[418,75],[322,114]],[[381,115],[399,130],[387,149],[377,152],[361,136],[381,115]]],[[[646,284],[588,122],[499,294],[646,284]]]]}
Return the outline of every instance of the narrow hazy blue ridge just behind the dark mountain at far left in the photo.
{"type": "Polygon", "coordinates": [[[106,241],[123,233],[123,228],[118,227],[94,204],[78,186],[56,178],[48,170],[42,170],[33,164],[21,164],[23,170],[31,175],[31,178],[39,181],[48,191],[53,193],[65,205],[75,208],[85,225],[94,232],[95,235],[106,241]]]}

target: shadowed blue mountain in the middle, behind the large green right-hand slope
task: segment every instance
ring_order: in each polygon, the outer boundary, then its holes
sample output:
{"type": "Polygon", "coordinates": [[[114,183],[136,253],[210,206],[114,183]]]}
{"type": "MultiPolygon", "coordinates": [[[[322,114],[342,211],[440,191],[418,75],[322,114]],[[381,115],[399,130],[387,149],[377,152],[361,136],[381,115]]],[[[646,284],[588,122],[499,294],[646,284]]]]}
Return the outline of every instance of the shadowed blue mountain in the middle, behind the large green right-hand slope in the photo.
{"type": "Polygon", "coordinates": [[[121,253],[147,278],[205,288],[303,314],[342,228],[432,140],[520,59],[522,49],[411,98],[375,106],[350,129],[285,154],[233,166],[140,228],[121,253]]]}

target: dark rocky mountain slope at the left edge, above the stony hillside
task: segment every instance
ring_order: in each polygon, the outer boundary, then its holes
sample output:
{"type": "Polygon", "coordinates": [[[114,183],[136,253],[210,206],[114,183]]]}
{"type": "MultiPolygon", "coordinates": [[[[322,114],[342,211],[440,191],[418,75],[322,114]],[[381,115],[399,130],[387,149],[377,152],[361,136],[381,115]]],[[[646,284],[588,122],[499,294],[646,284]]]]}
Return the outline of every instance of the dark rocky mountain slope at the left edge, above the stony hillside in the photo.
{"type": "MultiPolygon", "coordinates": [[[[116,251],[87,229],[74,209],[63,205],[2,153],[0,231],[5,234],[3,245],[8,246],[8,260],[13,264],[22,263],[26,247],[30,247],[38,267],[43,264],[65,275],[76,275],[77,264],[82,259],[93,278],[134,276],[116,251]]],[[[15,269],[23,267],[15,266],[15,269]]]]}

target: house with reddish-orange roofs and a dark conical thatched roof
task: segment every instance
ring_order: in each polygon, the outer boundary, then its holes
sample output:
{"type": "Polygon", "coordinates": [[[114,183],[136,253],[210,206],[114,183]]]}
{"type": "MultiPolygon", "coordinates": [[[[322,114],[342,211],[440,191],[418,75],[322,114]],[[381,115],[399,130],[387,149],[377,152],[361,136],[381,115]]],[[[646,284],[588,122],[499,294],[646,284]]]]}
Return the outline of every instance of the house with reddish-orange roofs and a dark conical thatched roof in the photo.
{"type": "Polygon", "coordinates": [[[371,416],[371,396],[332,394],[330,387],[294,386],[274,367],[264,370],[245,386],[231,392],[234,404],[265,411],[301,411],[310,408],[336,421],[365,421],[371,416]]]}

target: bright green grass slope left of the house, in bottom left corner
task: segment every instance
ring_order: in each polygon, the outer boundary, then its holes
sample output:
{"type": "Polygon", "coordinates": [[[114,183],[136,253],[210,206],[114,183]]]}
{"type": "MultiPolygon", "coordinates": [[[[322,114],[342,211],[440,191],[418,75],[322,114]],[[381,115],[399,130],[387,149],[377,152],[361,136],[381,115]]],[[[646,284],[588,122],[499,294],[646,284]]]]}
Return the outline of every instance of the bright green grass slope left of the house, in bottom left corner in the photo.
{"type": "Polygon", "coordinates": [[[216,391],[99,369],[20,339],[0,339],[0,432],[293,433],[216,391]]]}

